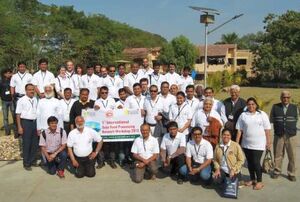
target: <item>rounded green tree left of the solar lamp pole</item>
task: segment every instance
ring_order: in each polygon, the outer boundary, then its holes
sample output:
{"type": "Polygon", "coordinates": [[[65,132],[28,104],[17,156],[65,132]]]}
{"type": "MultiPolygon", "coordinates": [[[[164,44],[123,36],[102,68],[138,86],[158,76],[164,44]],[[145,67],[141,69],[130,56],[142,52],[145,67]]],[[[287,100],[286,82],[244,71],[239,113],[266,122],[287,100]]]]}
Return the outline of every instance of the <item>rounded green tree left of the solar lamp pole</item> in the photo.
{"type": "Polygon", "coordinates": [[[185,66],[193,68],[196,58],[196,47],[188,38],[181,35],[162,47],[158,59],[164,64],[176,63],[177,71],[180,71],[185,66]]]}

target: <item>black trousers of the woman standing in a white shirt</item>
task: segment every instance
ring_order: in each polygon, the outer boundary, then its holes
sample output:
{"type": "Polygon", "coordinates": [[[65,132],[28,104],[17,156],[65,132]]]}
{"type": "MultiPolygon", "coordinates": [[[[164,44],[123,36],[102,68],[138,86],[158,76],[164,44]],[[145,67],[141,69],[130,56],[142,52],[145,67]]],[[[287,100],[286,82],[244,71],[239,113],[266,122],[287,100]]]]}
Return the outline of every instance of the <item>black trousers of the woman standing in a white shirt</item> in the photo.
{"type": "Polygon", "coordinates": [[[257,182],[262,182],[262,167],[260,164],[260,159],[263,151],[245,148],[243,148],[243,150],[248,163],[250,179],[252,181],[257,180],[257,182]]]}

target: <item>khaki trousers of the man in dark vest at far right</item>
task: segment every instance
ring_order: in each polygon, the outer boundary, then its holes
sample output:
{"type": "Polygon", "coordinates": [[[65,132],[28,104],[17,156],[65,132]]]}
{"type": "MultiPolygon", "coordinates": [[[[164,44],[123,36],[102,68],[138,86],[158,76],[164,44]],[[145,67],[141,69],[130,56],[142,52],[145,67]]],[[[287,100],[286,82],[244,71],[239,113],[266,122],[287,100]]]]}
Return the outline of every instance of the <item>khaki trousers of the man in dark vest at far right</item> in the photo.
{"type": "Polygon", "coordinates": [[[284,158],[285,151],[288,156],[288,167],[287,174],[289,176],[295,176],[296,174],[296,135],[289,137],[287,135],[274,136],[274,163],[275,163],[275,174],[281,173],[282,161],[284,158]]]}

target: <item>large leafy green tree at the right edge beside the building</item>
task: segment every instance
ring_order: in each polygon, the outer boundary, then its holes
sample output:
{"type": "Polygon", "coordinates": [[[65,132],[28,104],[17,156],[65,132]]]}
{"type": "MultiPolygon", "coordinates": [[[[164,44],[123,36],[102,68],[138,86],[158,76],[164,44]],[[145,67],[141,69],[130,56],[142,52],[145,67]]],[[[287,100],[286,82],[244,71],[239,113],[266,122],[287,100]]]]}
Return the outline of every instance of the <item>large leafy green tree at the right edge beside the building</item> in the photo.
{"type": "MultiPolygon", "coordinates": [[[[256,67],[276,81],[293,82],[300,77],[300,12],[287,11],[264,20],[265,33],[258,48],[256,67]]],[[[267,76],[266,76],[267,75],[267,76]]]]}

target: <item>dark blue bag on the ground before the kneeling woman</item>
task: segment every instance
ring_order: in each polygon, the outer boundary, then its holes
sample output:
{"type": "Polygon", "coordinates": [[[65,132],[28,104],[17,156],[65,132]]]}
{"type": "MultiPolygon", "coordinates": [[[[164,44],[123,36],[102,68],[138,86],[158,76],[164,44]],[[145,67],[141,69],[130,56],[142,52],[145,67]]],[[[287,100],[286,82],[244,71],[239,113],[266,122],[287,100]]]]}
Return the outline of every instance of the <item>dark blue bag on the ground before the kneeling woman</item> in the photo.
{"type": "Polygon", "coordinates": [[[239,180],[237,177],[225,177],[223,197],[225,198],[238,198],[239,180]]]}

